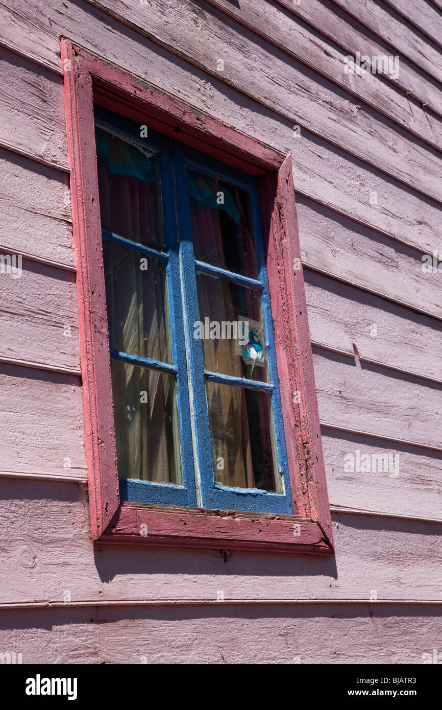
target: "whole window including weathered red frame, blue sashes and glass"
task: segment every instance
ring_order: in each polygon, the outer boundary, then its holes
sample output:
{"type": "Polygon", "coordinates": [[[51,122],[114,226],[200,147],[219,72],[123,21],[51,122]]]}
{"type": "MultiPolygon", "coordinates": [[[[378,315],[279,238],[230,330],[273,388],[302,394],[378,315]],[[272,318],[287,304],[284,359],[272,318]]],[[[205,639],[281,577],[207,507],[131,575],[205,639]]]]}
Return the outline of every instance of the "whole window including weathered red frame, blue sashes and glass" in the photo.
{"type": "Polygon", "coordinates": [[[62,55],[94,539],[331,552],[289,156],[62,55]]]}

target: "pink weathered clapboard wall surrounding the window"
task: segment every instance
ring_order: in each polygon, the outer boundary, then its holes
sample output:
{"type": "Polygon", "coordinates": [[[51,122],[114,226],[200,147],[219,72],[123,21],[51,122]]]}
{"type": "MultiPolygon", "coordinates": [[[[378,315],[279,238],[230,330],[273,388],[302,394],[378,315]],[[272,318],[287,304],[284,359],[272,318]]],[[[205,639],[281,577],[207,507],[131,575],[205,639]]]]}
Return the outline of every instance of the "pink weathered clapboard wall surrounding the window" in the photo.
{"type": "Polygon", "coordinates": [[[0,652],[23,663],[442,653],[442,273],[421,271],[442,256],[442,4],[240,6],[1,11],[0,253],[23,274],[0,274],[0,652]],[[291,151],[335,557],[93,547],[61,34],[291,151]],[[399,76],[346,74],[355,51],[399,76]],[[356,450],[399,476],[344,470],[356,450]]]}

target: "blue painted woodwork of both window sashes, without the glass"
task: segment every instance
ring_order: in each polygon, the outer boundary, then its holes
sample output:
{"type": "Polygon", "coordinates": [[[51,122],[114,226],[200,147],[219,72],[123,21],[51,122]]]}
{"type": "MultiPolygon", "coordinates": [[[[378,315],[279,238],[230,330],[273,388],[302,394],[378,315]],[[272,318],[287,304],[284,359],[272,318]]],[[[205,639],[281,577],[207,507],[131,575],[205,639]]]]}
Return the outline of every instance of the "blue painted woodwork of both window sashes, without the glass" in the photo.
{"type": "Polygon", "coordinates": [[[169,297],[172,364],[142,358],[111,349],[111,358],[143,367],[172,373],[177,378],[177,403],[181,435],[183,485],[158,484],[135,479],[119,479],[121,499],[139,503],[160,503],[171,506],[190,506],[208,510],[243,510],[250,512],[293,514],[287,449],[284,439],[280,385],[277,375],[275,338],[270,305],[270,291],[265,267],[265,251],[261,228],[256,178],[234,170],[177,141],[170,141],[160,133],[148,129],[148,137],[140,138],[139,126],[133,121],[116,116],[106,109],[95,107],[96,121],[109,126],[153,149],[160,159],[161,196],[165,249],[135,244],[129,239],[103,230],[103,239],[113,241],[144,256],[166,264],[169,297]],[[250,193],[253,229],[258,256],[259,279],[253,279],[226,269],[211,266],[194,257],[192,217],[187,188],[187,166],[196,168],[221,180],[231,182],[250,193]],[[175,192],[175,194],[174,194],[175,192]],[[175,217],[176,214],[176,217],[175,217]],[[179,234],[177,233],[177,223],[179,234]],[[199,321],[197,273],[233,281],[260,293],[266,334],[266,349],[270,383],[211,373],[204,370],[202,343],[193,337],[193,324],[199,321]],[[273,424],[277,447],[277,464],[284,493],[267,493],[259,488],[232,488],[216,484],[209,428],[206,381],[247,387],[270,393],[273,424]]]}

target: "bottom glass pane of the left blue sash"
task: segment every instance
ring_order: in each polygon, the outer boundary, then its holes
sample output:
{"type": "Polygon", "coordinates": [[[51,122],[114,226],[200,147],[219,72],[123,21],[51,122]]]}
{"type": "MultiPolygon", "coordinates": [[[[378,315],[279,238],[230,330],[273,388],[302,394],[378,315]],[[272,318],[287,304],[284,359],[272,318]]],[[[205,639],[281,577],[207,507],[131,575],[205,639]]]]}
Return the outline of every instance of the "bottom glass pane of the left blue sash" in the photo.
{"type": "Polygon", "coordinates": [[[182,485],[175,375],[111,359],[118,476],[182,485]]]}

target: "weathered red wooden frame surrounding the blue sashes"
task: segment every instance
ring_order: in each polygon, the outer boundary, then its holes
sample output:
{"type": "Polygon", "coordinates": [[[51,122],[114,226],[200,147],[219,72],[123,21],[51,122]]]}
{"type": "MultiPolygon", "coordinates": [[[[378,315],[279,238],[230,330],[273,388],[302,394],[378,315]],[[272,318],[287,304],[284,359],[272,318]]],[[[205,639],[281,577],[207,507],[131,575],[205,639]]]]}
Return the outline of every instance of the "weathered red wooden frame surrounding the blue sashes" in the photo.
{"type": "Polygon", "coordinates": [[[77,256],[79,337],[93,540],[333,552],[290,154],[61,38],[77,256]],[[112,405],[93,105],[257,175],[294,515],[121,503],[112,405]],[[299,393],[296,396],[294,393],[299,393]],[[298,401],[299,400],[299,401],[298,401]]]}

